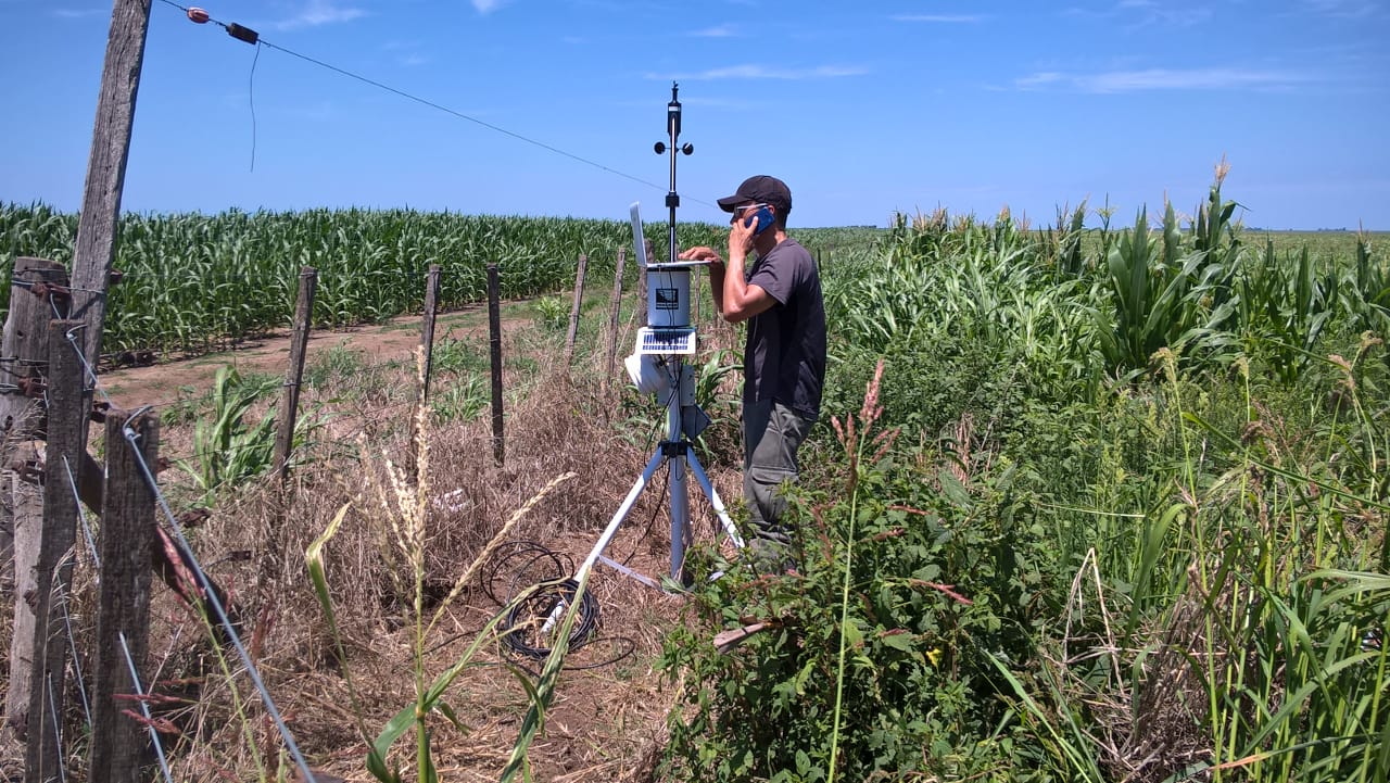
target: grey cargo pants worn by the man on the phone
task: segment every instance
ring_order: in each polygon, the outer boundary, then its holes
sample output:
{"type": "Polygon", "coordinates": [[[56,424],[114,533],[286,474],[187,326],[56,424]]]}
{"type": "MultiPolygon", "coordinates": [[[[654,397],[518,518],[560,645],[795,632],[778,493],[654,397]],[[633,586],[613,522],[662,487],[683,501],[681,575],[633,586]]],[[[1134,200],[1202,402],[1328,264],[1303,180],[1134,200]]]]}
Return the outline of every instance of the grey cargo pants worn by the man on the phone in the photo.
{"type": "Polygon", "coordinates": [[[787,501],[778,488],[799,473],[796,449],[815,421],[780,402],[744,403],[744,498],[748,501],[753,558],[784,570],[791,565],[791,533],[781,524],[787,501]]]}

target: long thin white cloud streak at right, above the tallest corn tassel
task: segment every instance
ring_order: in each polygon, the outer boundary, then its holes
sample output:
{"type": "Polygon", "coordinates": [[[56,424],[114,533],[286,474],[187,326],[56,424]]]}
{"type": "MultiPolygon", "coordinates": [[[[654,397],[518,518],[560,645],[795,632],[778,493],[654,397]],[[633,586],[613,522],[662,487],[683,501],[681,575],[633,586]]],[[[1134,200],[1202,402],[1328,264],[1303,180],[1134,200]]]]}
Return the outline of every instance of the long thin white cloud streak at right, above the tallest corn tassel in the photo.
{"type": "Polygon", "coordinates": [[[1123,93],[1148,90],[1287,89],[1307,83],[1308,81],[1311,81],[1309,76],[1301,74],[1254,68],[1145,68],[1101,74],[1042,71],[1015,79],[1013,85],[1019,89],[1056,86],[1090,93],[1123,93]]]}

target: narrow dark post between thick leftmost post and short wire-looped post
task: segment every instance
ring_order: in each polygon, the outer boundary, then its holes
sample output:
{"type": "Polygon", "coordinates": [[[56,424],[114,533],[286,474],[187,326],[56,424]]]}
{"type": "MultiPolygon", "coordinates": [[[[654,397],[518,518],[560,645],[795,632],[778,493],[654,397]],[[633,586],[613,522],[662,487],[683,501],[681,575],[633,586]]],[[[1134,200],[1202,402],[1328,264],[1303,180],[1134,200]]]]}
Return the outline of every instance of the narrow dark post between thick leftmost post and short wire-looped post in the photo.
{"type": "Polygon", "coordinates": [[[72,491],[82,465],[83,410],[81,344],[68,342],[68,330],[82,321],[49,323],[49,433],[43,473],[43,531],[39,542],[33,615],[33,673],[29,680],[29,737],[24,766],[26,780],[60,780],[63,747],[58,727],[67,701],[67,601],[76,541],[78,497],[72,491]],[[68,467],[72,471],[68,473],[68,467]]]}

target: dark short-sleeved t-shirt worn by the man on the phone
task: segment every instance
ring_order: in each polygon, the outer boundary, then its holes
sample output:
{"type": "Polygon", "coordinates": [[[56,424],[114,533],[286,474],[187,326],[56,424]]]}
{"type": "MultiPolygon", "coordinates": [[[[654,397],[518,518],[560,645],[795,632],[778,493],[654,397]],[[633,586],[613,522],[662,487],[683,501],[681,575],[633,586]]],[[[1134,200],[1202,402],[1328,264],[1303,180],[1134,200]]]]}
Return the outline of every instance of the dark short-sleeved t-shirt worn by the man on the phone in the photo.
{"type": "Polygon", "coordinates": [[[748,284],[777,303],[748,321],[744,402],[773,399],[817,417],[826,381],[826,305],[816,260],[795,239],[784,239],[758,259],[748,284]]]}

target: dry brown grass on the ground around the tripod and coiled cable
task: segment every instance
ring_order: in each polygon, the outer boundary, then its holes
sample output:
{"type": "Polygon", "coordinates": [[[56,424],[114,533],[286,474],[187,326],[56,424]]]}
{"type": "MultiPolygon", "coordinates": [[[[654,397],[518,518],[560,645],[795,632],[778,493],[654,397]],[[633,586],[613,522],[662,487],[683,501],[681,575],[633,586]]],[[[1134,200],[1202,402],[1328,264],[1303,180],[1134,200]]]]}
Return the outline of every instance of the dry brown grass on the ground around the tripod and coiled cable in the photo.
{"type": "MultiPolygon", "coordinates": [[[[434,502],[425,526],[427,597],[442,598],[502,522],[567,471],[577,477],[541,499],[513,535],[542,542],[577,563],[649,459],[649,452],[617,437],[598,413],[613,409],[598,384],[542,373],[545,381],[507,412],[505,466],[493,465],[488,420],[430,433],[434,502]]],[[[370,433],[371,446],[398,463],[409,455],[406,419],[377,421],[370,433]]],[[[317,769],[357,782],[370,779],[363,766],[366,745],[342,668],[353,675],[373,737],[413,701],[410,608],[402,599],[410,577],[406,566],[392,566],[384,556],[389,548],[382,520],[374,517],[379,512],[360,497],[364,471],[374,469],[375,458],[348,456],[345,445],[325,444],[325,456],[295,474],[288,505],[272,487],[238,492],[196,533],[195,548],[242,609],[247,645],[300,750],[317,769]],[[341,662],[306,579],[303,552],[350,501],[357,502],[325,555],[346,647],[341,662]]],[[[737,497],[737,470],[710,473],[726,498],[737,497]]],[[[609,548],[610,556],[655,576],[667,570],[662,491],[659,474],[609,548]]],[[[713,519],[702,494],[692,491],[692,501],[695,519],[713,519]]],[[[701,523],[696,534],[709,540],[710,531],[712,526],[701,523]]],[[[495,592],[509,588],[495,586],[495,592]]],[[[602,608],[600,641],[570,656],[575,669],[563,677],[530,755],[542,780],[651,780],[676,698],[652,662],[663,629],[678,620],[680,604],[603,569],[591,591],[602,608]]],[[[235,661],[224,668],[186,608],[156,592],[150,644],[152,663],[160,670],[156,690],[196,697],[171,713],[183,730],[175,776],[242,780],[257,769],[272,769],[278,740],[245,675],[235,661]]],[[[427,679],[455,663],[498,611],[481,581],[470,584],[430,640],[427,679]]],[[[527,709],[525,693],[509,666],[528,662],[507,661],[492,649],[482,663],[464,673],[446,697],[466,730],[443,720],[434,725],[432,745],[445,780],[496,779],[527,709]]]]}

